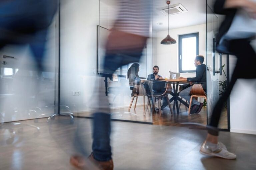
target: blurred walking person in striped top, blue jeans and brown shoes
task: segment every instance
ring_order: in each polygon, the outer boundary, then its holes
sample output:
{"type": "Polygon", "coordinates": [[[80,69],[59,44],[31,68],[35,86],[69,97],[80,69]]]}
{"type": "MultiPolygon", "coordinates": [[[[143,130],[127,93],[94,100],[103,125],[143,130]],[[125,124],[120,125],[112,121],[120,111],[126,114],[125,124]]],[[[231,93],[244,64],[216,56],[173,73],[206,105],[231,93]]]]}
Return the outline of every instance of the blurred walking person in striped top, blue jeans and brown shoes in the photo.
{"type": "Polygon", "coordinates": [[[78,168],[86,168],[89,163],[94,166],[112,170],[113,160],[110,146],[110,108],[105,96],[104,77],[112,77],[115,70],[129,63],[139,62],[142,50],[149,37],[151,18],[151,0],[118,0],[119,12],[106,43],[102,78],[95,89],[97,96],[93,114],[92,153],[87,161],[84,156],[74,155],[70,163],[78,168]]]}

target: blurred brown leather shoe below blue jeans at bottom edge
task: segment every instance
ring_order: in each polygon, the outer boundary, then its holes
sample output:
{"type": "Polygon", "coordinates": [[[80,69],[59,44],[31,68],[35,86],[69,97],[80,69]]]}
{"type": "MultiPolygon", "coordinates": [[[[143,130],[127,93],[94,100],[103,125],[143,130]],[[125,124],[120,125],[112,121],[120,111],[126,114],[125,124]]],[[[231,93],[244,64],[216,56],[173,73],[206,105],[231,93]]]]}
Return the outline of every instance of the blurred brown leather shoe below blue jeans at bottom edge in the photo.
{"type": "Polygon", "coordinates": [[[87,159],[83,156],[73,155],[70,157],[70,164],[83,170],[113,170],[113,160],[97,161],[91,154],[87,159]]]}

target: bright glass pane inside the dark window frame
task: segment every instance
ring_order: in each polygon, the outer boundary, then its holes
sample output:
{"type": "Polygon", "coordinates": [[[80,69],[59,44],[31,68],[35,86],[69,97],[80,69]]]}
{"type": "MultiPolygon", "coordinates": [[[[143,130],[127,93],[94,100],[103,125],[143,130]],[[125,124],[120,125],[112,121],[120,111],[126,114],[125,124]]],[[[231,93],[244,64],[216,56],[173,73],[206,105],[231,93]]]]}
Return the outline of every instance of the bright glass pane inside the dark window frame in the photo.
{"type": "Polygon", "coordinates": [[[182,39],[182,70],[194,70],[196,56],[196,37],[182,39]]]}

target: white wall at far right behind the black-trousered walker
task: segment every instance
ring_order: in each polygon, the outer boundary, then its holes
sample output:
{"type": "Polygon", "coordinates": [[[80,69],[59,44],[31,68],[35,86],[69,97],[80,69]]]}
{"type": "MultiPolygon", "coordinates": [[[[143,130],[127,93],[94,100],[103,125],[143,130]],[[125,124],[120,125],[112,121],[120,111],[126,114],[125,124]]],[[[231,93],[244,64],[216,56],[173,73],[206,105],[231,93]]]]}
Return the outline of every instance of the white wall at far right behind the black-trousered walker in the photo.
{"type": "MultiPolygon", "coordinates": [[[[252,43],[256,50],[256,42],[252,43]]],[[[230,77],[236,57],[230,56],[230,77]]],[[[249,74],[249,73],[248,73],[249,74]]],[[[230,95],[230,131],[256,134],[256,80],[238,79],[230,95]]]]}

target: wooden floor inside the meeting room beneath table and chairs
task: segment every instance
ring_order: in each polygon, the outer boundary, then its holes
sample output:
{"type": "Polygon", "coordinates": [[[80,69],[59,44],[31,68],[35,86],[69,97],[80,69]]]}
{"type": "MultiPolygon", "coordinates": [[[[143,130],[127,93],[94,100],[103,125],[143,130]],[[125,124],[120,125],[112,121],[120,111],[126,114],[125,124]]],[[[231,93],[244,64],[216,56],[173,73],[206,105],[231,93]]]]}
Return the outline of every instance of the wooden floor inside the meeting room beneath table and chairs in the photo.
{"type": "MultiPolygon", "coordinates": [[[[173,105],[172,105],[173,107],[173,105]]],[[[93,112],[79,112],[75,113],[76,116],[80,117],[91,117],[93,112]]],[[[116,120],[128,120],[128,121],[138,121],[138,122],[147,122],[153,123],[154,125],[164,125],[164,126],[184,126],[180,123],[198,123],[202,125],[207,125],[207,108],[203,107],[199,114],[188,115],[188,109],[186,110],[184,105],[180,107],[180,114],[174,115],[171,114],[170,110],[163,110],[162,116],[159,116],[159,113],[154,112],[152,114],[152,109],[148,108],[146,115],[143,115],[143,106],[137,106],[136,109],[132,107],[130,112],[128,107],[126,108],[117,108],[112,109],[112,119],[116,120]]],[[[227,111],[224,110],[219,128],[227,129],[227,111]]]]}

